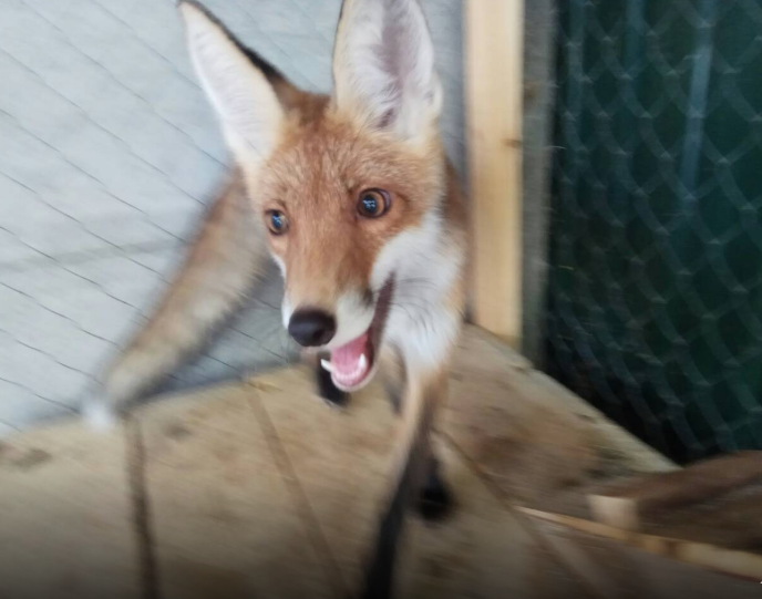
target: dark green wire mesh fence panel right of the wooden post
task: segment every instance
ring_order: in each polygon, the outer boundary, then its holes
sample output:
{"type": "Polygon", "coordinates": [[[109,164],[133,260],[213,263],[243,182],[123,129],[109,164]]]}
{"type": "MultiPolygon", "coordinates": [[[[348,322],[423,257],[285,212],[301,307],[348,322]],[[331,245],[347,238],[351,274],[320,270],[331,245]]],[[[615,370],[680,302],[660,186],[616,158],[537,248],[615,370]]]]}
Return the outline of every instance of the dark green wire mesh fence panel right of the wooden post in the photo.
{"type": "Polygon", "coordinates": [[[762,448],[762,2],[559,2],[552,375],[679,462],[762,448]]]}

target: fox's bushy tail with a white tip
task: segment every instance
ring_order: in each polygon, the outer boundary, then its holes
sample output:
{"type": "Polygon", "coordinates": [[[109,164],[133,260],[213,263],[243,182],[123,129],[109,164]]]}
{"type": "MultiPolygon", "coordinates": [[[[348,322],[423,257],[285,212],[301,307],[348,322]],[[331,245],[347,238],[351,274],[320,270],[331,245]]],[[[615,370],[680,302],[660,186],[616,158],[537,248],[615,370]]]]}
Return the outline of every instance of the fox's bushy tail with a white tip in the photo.
{"type": "Polygon", "coordinates": [[[265,266],[260,228],[236,169],[158,310],[111,364],[100,396],[85,405],[95,424],[155,388],[243,303],[265,266]]]}

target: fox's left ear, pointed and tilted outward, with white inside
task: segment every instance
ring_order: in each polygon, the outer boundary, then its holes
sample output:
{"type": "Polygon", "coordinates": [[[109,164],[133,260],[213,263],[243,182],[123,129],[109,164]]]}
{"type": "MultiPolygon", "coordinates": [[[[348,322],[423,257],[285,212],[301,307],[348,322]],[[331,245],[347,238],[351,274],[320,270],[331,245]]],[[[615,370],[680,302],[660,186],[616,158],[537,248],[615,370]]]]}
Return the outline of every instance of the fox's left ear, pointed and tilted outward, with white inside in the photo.
{"type": "Polygon", "coordinates": [[[237,159],[248,164],[272,151],[284,111],[268,75],[200,4],[181,1],[188,50],[198,79],[237,159]]]}

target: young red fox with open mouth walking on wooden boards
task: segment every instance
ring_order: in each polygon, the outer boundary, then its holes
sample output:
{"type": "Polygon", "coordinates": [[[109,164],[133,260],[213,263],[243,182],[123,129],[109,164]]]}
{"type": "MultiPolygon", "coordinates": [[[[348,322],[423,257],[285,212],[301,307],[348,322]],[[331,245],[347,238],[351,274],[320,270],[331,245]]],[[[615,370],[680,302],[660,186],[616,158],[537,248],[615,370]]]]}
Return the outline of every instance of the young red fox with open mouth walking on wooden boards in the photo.
{"type": "Polygon", "coordinates": [[[359,597],[389,598],[406,513],[452,493],[432,430],[466,304],[465,196],[443,148],[443,93],[418,0],[344,0],[330,94],[295,86],[205,7],[177,4],[231,157],[184,266],[110,365],[93,422],[113,422],[197,351],[260,279],[284,278],[282,323],[343,406],[382,372],[399,415],[394,476],[359,597]]]}

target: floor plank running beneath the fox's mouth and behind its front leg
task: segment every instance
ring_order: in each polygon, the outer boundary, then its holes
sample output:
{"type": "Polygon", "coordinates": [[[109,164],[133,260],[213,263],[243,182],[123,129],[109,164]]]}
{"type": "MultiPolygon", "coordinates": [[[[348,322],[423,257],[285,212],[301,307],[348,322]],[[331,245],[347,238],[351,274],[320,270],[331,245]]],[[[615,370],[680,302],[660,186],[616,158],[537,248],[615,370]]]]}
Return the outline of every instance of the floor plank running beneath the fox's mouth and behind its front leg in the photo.
{"type": "MultiPolygon", "coordinates": [[[[308,369],[258,376],[253,384],[348,588],[357,588],[393,457],[395,420],[381,385],[356,393],[339,412],[315,396],[308,369]]],[[[457,507],[441,525],[411,518],[398,597],[568,597],[576,580],[536,546],[456,453],[437,448],[457,507]]],[[[579,590],[576,596],[585,597],[579,590]]]]}

